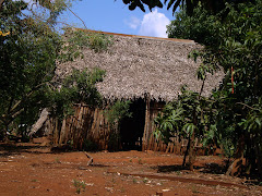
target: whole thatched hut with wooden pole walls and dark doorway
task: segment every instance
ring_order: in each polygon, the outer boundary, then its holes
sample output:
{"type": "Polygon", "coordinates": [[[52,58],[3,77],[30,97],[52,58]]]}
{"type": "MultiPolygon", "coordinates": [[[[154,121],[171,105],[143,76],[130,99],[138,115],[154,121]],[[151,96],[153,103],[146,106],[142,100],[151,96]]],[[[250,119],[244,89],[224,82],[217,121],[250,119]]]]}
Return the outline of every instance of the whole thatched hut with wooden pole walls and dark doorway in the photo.
{"type": "MultiPolygon", "coordinates": [[[[201,90],[202,81],[196,78],[199,64],[188,58],[189,52],[201,46],[193,40],[102,34],[112,36],[114,44],[108,50],[95,52],[84,49],[83,59],[58,65],[57,79],[68,75],[72,69],[105,70],[104,81],[97,84],[105,100],[133,100],[133,119],[124,121],[119,132],[122,146],[139,139],[143,149],[165,150],[164,144],[156,147],[159,143],[155,145],[152,136],[154,118],[164,102],[177,98],[182,85],[194,91],[201,90]]],[[[212,77],[207,75],[202,95],[207,96],[223,76],[223,71],[212,77]]],[[[83,148],[87,140],[100,149],[109,149],[112,138],[102,109],[83,105],[75,110],[74,117],[63,121],[61,128],[53,125],[52,135],[55,144],[73,140],[75,148],[83,148]]]]}

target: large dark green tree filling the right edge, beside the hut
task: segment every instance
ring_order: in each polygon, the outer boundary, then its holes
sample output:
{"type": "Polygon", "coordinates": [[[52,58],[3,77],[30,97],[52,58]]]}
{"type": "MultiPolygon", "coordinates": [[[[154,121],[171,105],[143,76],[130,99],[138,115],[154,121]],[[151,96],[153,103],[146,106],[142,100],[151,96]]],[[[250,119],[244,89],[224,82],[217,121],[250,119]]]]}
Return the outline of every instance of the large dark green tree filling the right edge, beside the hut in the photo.
{"type": "MultiPolygon", "coordinates": [[[[205,76],[219,66],[225,72],[223,84],[209,101],[212,102],[213,136],[234,151],[235,161],[228,170],[231,174],[235,173],[231,169],[243,157],[246,172],[259,169],[262,173],[261,11],[261,0],[236,7],[226,4],[217,14],[200,5],[192,16],[179,12],[168,26],[170,37],[190,38],[205,46],[204,50],[193,53],[203,62],[199,75],[205,76]]],[[[229,155],[230,150],[227,151],[229,155]]]]}

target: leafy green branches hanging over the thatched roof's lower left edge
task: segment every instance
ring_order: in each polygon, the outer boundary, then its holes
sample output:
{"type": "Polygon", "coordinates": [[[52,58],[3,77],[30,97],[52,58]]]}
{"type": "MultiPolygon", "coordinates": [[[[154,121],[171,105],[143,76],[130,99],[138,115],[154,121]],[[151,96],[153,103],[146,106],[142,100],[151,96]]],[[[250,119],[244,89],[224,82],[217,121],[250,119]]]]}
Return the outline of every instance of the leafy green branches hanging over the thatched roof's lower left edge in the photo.
{"type": "Polygon", "coordinates": [[[72,114],[73,103],[84,102],[92,107],[98,106],[102,97],[95,84],[102,82],[104,75],[105,71],[99,69],[91,72],[73,70],[72,74],[63,79],[60,88],[49,88],[46,97],[48,97],[48,106],[52,115],[62,120],[72,114]]]}

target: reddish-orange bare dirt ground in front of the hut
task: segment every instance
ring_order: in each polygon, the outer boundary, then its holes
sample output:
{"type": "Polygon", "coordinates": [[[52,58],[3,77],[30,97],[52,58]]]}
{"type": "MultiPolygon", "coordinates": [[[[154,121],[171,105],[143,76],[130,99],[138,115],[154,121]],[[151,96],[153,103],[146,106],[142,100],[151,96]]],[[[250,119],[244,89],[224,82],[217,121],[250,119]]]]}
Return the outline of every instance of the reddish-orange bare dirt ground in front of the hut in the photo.
{"type": "Polygon", "coordinates": [[[86,166],[83,151],[52,152],[45,144],[0,144],[1,196],[262,195],[261,186],[219,174],[224,158],[216,156],[198,157],[193,172],[181,169],[182,156],[153,151],[88,152],[86,166]]]}

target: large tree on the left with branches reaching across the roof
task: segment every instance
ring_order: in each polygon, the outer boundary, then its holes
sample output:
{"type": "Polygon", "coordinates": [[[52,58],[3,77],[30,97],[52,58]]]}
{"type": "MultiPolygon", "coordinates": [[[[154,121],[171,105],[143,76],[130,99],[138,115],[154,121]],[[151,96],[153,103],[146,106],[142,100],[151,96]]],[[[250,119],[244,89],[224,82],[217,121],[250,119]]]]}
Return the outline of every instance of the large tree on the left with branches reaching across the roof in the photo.
{"type": "Polygon", "coordinates": [[[52,108],[53,114],[61,118],[73,101],[96,103],[98,99],[94,84],[102,79],[103,71],[75,71],[67,83],[62,83],[60,90],[57,89],[58,81],[53,81],[55,71],[58,61],[80,57],[85,47],[104,51],[111,39],[72,29],[61,35],[56,24],[68,2],[37,3],[40,12],[24,1],[1,1],[0,138],[12,128],[21,127],[25,132],[43,108],[52,108]]]}

